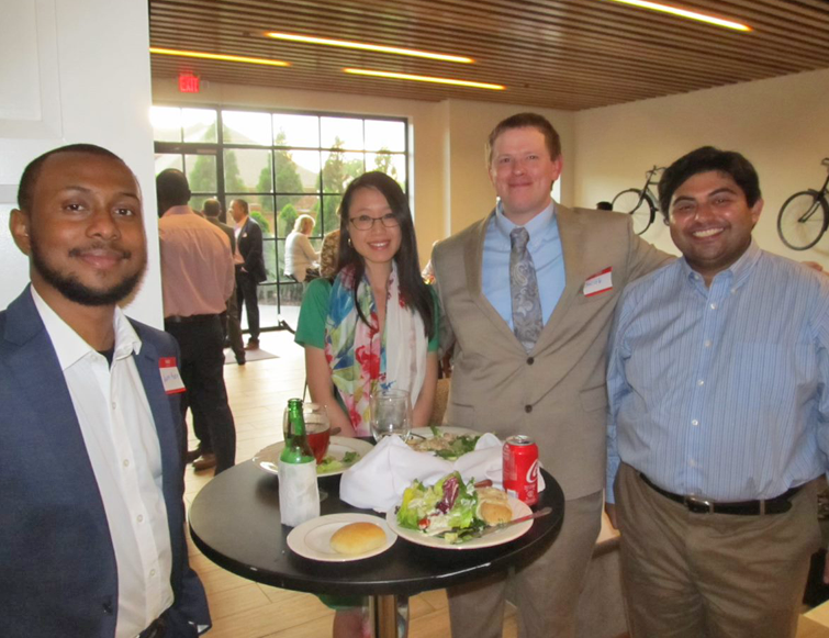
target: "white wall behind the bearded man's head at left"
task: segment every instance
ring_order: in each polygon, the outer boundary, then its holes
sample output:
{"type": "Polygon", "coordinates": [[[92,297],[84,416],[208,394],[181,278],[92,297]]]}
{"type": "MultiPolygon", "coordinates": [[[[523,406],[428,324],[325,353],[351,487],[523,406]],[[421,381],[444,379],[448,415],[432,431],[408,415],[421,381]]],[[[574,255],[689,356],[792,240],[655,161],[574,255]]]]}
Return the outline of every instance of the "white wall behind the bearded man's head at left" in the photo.
{"type": "Polygon", "coordinates": [[[29,280],[27,261],[7,230],[23,168],[51,148],[86,142],[116,153],[138,177],[149,268],[127,312],[160,327],[146,3],[2,0],[2,5],[0,307],[29,280]]]}

